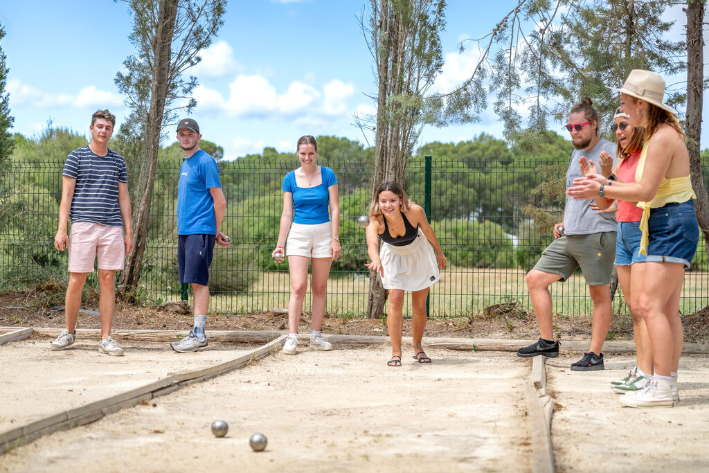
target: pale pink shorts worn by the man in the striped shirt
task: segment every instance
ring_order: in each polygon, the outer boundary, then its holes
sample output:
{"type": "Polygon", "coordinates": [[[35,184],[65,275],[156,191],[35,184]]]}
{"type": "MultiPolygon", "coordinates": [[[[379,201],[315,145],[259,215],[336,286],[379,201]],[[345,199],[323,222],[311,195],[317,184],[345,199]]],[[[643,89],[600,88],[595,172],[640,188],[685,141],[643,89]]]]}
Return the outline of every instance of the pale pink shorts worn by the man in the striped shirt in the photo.
{"type": "Polygon", "coordinates": [[[123,269],[123,227],[91,222],[72,223],[69,272],[94,272],[96,257],[99,259],[99,269],[123,269]]]}

